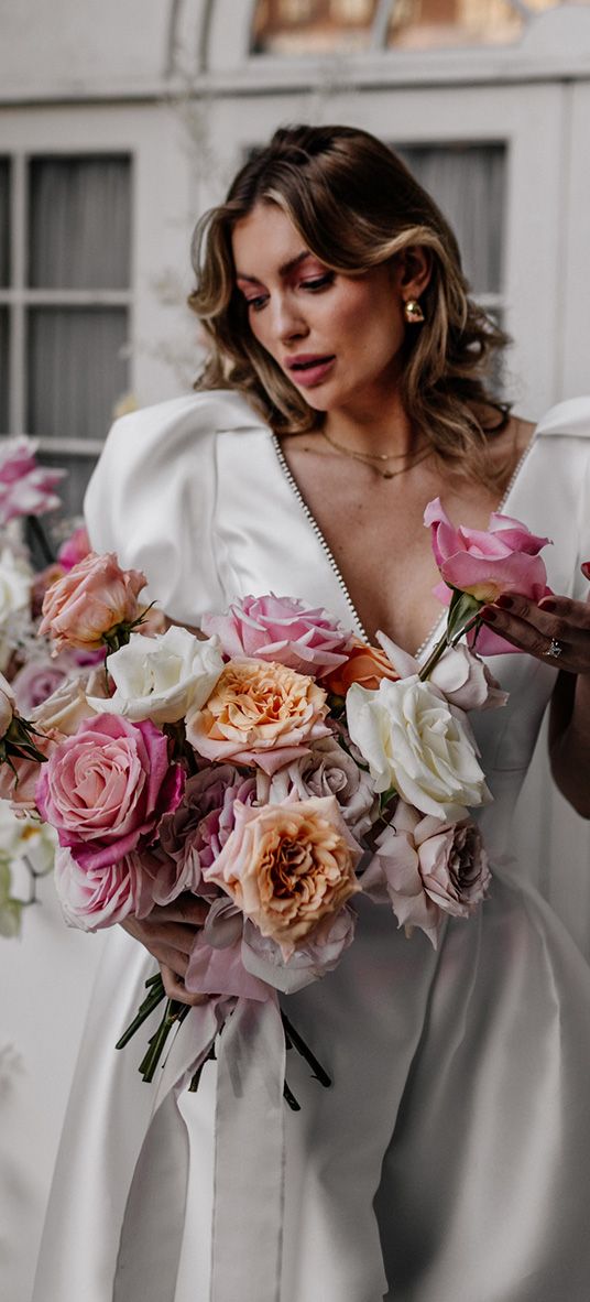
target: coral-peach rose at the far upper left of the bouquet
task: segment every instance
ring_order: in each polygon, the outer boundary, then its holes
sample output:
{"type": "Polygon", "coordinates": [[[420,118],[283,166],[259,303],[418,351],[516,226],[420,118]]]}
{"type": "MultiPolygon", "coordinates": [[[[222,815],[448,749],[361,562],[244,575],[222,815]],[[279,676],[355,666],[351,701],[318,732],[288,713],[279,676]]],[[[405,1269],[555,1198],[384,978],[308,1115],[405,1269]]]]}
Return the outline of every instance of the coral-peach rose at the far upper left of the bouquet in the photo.
{"type": "Polygon", "coordinates": [[[146,585],[139,570],[122,570],[113,552],[90,552],[43,598],[40,634],[57,648],[100,647],[120,625],[132,625],[141,615],[138,595],[146,585]]]}

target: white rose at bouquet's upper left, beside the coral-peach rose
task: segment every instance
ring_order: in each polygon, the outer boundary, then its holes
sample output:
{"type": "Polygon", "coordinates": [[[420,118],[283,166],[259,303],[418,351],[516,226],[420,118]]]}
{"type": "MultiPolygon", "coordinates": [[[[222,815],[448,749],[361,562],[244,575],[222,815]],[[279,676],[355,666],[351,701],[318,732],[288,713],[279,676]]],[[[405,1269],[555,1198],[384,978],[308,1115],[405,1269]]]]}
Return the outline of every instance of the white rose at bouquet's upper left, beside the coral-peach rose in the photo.
{"type": "Polygon", "coordinates": [[[223,668],[218,637],[203,642],[176,625],[154,638],[132,633],[128,646],[108,656],[115,695],[108,700],[89,697],[89,702],[99,712],[124,715],[133,723],[173,724],[204,706],[223,668]]]}

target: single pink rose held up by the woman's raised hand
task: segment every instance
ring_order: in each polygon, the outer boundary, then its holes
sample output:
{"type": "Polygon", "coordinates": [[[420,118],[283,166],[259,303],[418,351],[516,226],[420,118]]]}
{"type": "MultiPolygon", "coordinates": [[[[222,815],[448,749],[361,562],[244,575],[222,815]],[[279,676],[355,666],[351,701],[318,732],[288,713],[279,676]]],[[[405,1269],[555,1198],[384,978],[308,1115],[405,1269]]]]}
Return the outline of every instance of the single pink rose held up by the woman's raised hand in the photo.
{"type": "MultiPolygon", "coordinates": [[[[482,604],[495,602],[500,592],[518,592],[533,602],[551,592],[538,555],[550,539],[531,534],[518,519],[494,512],[487,530],[462,525],[456,529],[440,497],[435,497],[426,506],[425,525],[431,529],[432,551],[444,581],[434,591],[444,605],[449,604],[452,589],[482,604]]],[[[516,650],[487,628],[479,631],[477,644],[483,655],[516,650]]]]}

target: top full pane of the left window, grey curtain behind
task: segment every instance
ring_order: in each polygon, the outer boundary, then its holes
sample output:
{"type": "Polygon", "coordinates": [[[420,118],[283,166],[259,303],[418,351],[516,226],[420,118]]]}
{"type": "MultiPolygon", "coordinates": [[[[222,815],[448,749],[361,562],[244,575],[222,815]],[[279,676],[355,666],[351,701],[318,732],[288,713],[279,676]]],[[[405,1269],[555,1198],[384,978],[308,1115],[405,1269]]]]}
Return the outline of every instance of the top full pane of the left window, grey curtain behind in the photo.
{"type": "Polygon", "coordinates": [[[129,159],[38,158],[29,182],[31,288],[126,289],[129,159]]]}

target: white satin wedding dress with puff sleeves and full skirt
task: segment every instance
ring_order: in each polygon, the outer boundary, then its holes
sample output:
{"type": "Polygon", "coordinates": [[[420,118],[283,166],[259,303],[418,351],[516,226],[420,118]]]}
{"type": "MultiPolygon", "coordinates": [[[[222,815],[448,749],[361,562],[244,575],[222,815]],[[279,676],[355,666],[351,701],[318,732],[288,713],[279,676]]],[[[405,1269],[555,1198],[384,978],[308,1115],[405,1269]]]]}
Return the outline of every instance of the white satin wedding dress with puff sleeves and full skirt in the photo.
{"type": "MultiPolygon", "coordinates": [[[[541,422],[503,508],[554,539],[550,585],[581,598],[589,401],[541,422]]],[[[271,432],[236,395],[117,422],[87,518],[95,548],[143,569],[177,621],[275,591],[361,631],[271,432]]],[[[155,963],[113,930],[35,1302],[586,1302],[590,969],[511,861],[511,816],[556,669],[509,655],[494,671],[509,704],[475,719],[495,796],[482,819],[490,898],[449,922],[438,953],[361,901],[337,970],[285,1000],[333,1079],[324,1090],[290,1051],[301,1112],[281,1105],[277,1120],[267,1098],[271,1042],[267,1057],[220,1062],[221,1083],[207,1064],[189,1094],[190,1018],[160,1090],[143,1085],[145,1034],[122,1053],[113,1046],[155,963]]]]}

